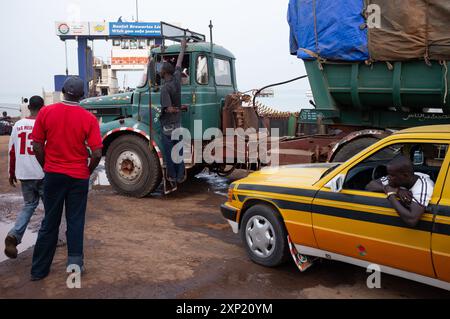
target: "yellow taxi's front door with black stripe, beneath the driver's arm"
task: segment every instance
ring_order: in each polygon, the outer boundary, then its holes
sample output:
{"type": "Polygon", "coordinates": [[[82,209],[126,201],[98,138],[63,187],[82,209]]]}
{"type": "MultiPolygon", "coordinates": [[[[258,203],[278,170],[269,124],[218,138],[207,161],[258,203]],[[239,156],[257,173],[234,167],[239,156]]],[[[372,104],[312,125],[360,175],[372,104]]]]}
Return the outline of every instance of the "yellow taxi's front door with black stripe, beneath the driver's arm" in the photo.
{"type": "MultiPolygon", "coordinates": [[[[382,171],[380,167],[398,154],[409,155],[409,150],[417,146],[415,143],[387,143],[353,163],[343,164],[339,172],[346,176],[342,191],[335,193],[323,187],[318,192],[312,205],[318,246],[342,255],[344,259],[352,257],[435,277],[430,247],[431,211],[427,209],[419,224],[411,228],[400,219],[385,194],[365,190],[372,179],[386,175],[385,172],[379,173],[382,171]]],[[[426,145],[425,141],[420,143],[426,145]]],[[[429,141],[428,145],[433,146],[434,143],[429,141]]],[[[445,172],[439,172],[442,162],[433,163],[434,160],[433,155],[429,155],[414,170],[429,174],[439,183],[445,172]]],[[[439,190],[436,190],[431,207],[438,203],[439,198],[439,190]]]]}

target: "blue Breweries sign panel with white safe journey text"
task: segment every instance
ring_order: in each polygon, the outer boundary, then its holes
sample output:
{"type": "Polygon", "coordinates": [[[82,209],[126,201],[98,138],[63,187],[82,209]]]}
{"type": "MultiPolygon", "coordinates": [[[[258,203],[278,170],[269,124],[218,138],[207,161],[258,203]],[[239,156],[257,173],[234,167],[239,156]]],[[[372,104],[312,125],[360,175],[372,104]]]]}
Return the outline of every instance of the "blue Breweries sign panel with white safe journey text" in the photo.
{"type": "Polygon", "coordinates": [[[110,22],[109,35],[157,37],[161,36],[161,24],[159,22],[110,22]]]}

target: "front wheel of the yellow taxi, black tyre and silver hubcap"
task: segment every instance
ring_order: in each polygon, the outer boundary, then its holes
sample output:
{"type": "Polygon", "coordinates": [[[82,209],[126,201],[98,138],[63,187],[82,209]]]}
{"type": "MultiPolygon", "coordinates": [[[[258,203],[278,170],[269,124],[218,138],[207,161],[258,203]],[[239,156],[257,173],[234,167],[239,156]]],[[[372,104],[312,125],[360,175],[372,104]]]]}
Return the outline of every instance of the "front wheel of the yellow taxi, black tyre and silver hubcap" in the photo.
{"type": "Polygon", "coordinates": [[[283,220],[270,206],[258,204],[248,209],[242,220],[241,239],[257,264],[276,267],[289,258],[283,220]]]}

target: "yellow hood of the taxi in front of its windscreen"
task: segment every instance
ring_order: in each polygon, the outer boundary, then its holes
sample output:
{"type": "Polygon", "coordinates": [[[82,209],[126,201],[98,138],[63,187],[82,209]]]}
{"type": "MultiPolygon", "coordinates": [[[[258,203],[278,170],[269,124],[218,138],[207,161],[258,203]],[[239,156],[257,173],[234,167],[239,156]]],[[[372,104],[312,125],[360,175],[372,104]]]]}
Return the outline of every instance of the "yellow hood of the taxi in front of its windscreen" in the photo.
{"type": "Polygon", "coordinates": [[[286,187],[312,186],[337,163],[285,165],[266,167],[239,181],[242,184],[264,184],[286,187]]]}

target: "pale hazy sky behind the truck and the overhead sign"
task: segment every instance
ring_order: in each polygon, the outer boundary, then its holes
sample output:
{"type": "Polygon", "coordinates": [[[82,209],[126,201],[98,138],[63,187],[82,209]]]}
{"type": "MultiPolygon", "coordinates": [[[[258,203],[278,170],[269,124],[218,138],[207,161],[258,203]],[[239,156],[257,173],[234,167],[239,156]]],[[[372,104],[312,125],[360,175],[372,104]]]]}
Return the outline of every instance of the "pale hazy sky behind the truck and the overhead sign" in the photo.
{"type": "MultiPolygon", "coordinates": [[[[132,21],[135,0],[1,0],[0,102],[53,91],[53,76],[65,73],[64,43],[55,21],[132,21]]],[[[288,0],[138,0],[139,20],[166,21],[208,35],[236,56],[238,88],[246,91],[305,74],[289,54],[288,0]]],[[[96,41],[94,55],[106,58],[111,42],[96,41]]],[[[68,41],[69,73],[77,74],[77,46],[68,41]]],[[[133,75],[131,75],[133,77],[133,75]]],[[[119,82],[120,83],[120,82],[119,82]]],[[[307,80],[276,91],[284,107],[305,104],[307,80]],[[281,97],[281,96],[279,96],[281,97]]]]}

